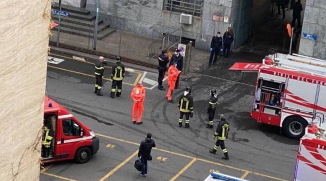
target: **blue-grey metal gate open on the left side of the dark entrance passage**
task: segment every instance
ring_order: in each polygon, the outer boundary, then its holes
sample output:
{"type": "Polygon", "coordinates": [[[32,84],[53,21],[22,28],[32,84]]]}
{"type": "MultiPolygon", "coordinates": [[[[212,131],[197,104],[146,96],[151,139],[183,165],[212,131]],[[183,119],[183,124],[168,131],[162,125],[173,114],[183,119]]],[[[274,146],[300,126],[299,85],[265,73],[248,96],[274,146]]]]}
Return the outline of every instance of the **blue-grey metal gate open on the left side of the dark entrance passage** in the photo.
{"type": "Polygon", "coordinates": [[[234,48],[238,48],[248,39],[251,8],[252,0],[240,1],[236,24],[237,28],[234,37],[234,48]]]}

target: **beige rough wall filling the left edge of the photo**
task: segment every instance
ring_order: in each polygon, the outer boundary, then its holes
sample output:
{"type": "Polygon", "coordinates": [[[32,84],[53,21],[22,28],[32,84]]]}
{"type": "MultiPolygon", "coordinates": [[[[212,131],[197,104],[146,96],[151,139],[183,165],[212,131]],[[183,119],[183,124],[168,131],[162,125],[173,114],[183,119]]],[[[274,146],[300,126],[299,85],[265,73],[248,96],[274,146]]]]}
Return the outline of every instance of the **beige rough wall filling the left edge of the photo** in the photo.
{"type": "Polygon", "coordinates": [[[0,180],[39,180],[51,1],[0,1],[0,180]]]}

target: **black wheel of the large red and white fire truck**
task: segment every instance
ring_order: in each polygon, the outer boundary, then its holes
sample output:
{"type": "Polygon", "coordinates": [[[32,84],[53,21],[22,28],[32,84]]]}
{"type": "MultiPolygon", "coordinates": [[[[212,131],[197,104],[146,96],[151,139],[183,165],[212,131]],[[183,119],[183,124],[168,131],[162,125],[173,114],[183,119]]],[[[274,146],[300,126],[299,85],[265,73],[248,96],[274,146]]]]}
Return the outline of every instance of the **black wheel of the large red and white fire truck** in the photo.
{"type": "Polygon", "coordinates": [[[298,116],[292,116],[286,119],[283,124],[283,130],[286,136],[294,139],[300,139],[305,134],[306,120],[298,116]]]}

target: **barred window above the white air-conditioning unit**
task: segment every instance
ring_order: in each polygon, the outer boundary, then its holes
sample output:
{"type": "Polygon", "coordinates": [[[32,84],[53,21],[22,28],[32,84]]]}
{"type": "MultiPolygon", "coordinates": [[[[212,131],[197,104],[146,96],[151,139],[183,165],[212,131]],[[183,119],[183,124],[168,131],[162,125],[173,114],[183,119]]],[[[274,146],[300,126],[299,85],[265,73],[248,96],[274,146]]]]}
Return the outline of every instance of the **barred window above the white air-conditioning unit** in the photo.
{"type": "Polygon", "coordinates": [[[204,0],[164,0],[164,9],[201,16],[204,0]]]}

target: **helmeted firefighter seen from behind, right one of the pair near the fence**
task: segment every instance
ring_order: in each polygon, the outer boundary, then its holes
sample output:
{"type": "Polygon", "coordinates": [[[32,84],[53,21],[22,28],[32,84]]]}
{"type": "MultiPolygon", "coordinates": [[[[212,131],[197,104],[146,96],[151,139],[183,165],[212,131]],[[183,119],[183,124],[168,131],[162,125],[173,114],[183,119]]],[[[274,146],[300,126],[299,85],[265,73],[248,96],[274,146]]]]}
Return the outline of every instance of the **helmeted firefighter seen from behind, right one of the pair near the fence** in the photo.
{"type": "Polygon", "coordinates": [[[117,97],[120,97],[122,91],[122,80],[125,77],[125,66],[121,63],[120,57],[116,58],[116,65],[112,67],[111,79],[111,98],[114,98],[115,88],[118,86],[117,97]]]}

